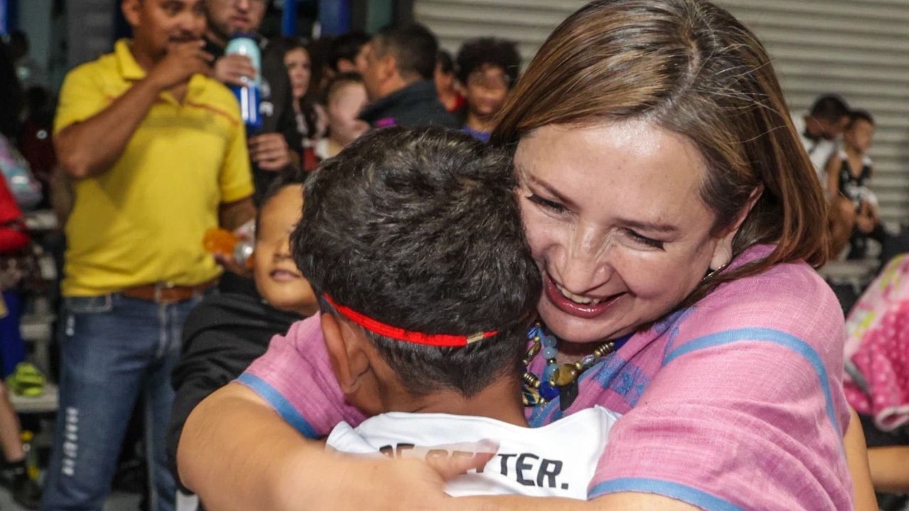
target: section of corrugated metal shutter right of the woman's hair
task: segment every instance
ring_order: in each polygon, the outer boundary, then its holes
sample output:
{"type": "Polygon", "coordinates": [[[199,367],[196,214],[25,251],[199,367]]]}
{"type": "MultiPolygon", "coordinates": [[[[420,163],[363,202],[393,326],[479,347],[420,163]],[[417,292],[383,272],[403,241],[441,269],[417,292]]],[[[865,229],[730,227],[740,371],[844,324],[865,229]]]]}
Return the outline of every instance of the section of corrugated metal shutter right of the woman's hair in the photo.
{"type": "Polygon", "coordinates": [[[802,114],[841,94],[874,115],[872,189],[886,222],[909,220],[909,0],[724,0],[764,41],[802,114]]]}

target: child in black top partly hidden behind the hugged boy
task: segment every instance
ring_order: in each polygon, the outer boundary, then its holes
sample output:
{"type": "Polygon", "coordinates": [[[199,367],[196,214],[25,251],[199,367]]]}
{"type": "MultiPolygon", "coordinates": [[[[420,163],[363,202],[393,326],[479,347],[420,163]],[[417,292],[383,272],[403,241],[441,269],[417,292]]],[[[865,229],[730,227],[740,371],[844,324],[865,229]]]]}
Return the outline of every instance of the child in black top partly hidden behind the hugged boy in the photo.
{"type": "Polygon", "coordinates": [[[272,336],[318,310],[313,289],[288,246],[302,209],[302,177],[279,175],[256,218],[253,277],[263,300],[234,293],[208,296],[186,317],[183,355],[172,376],[176,396],[167,434],[175,475],[177,442],[193,408],[265,353],[272,336]]]}

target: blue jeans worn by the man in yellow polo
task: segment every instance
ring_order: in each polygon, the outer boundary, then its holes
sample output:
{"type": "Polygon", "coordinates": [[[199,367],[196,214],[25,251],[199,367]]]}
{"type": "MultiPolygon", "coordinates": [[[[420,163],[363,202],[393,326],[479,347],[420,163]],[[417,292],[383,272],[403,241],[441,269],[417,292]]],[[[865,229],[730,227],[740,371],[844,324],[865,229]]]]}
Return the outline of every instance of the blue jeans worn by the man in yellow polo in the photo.
{"type": "Polygon", "coordinates": [[[67,297],[60,409],[41,509],[101,511],[136,399],[145,396],[150,509],[173,511],[165,434],[186,315],[200,300],[157,304],[119,294],[67,297]]]}

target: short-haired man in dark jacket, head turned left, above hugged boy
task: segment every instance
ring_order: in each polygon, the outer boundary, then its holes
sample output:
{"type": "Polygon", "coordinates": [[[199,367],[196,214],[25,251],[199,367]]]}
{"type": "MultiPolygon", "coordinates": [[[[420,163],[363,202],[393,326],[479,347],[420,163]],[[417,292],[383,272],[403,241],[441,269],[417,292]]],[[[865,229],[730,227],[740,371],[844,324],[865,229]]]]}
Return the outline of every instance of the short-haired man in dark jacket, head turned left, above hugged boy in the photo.
{"type": "Polygon", "coordinates": [[[372,127],[442,125],[457,127],[435,93],[438,52],[424,25],[388,26],[369,43],[364,83],[370,105],[360,118],[372,127]]]}

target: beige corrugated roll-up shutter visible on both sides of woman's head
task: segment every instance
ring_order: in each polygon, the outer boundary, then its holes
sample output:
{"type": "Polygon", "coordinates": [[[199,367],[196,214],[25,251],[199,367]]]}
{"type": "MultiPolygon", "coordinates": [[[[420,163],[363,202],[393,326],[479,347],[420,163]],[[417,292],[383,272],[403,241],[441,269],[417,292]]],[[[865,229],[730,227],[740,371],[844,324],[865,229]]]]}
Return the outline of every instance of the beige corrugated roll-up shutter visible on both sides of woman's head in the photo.
{"type": "MultiPolygon", "coordinates": [[[[577,0],[415,0],[414,15],[453,54],[471,37],[517,41],[524,62],[577,0]]],[[[874,115],[881,215],[909,221],[909,0],[720,0],[764,41],[800,114],[824,93],[874,115]]]]}

